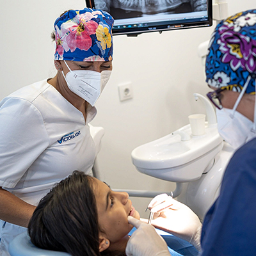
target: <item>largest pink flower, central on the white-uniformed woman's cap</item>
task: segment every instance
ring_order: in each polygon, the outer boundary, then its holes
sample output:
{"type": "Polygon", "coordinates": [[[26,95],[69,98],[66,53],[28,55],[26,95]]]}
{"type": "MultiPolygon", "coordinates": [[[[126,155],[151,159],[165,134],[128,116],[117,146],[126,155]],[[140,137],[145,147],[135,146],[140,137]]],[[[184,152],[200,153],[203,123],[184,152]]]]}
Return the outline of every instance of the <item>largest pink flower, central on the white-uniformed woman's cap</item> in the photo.
{"type": "Polygon", "coordinates": [[[67,45],[71,52],[74,52],[76,48],[88,51],[92,46],[92,38],[90,38],[90,35],[96,33],[98,24],[88,19],[90,19],[90,17],[86,17],[86,15],[77,15],[72,20],[73,24],[68,28],[69,33],[66,36],[67,45]]]}

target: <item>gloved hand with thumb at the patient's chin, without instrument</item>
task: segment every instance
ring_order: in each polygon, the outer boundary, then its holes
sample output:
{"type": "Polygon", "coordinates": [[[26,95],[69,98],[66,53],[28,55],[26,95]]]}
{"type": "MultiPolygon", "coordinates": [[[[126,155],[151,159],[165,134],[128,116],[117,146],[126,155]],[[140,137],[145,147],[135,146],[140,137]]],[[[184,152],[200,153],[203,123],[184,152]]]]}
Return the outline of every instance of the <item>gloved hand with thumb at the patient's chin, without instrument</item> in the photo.
{"type": "Polygon", "coordinates": [[[137,228],[130,237],[125,253],[127,256],[170,256],[163,237],[154,227],[128,216],[131,225],[137,228]]]}

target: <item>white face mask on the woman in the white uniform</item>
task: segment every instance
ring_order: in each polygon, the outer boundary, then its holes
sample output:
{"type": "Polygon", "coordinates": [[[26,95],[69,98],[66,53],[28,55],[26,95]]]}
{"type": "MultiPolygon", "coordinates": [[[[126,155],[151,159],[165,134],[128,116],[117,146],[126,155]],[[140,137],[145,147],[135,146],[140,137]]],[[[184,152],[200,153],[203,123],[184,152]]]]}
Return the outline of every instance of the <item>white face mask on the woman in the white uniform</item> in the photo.
{"type": "MultiPolygon", "coordinates": [[[[64,62],[67,65],[66,61],[64,62]]],[[[68,69],[66,77],[63,71],[62,74],[70,91],[94,106],[108,83],[111,70],[103,70],[99,73],[92,70],[70,70],[69,67],[68,69]]]]}

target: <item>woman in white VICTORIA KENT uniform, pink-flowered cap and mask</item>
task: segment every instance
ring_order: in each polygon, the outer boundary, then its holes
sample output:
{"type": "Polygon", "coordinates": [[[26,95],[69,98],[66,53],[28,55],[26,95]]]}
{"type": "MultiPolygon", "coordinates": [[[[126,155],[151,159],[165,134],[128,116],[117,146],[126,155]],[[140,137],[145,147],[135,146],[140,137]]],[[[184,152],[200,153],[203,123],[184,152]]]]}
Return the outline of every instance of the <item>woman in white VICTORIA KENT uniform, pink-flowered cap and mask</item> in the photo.
{"type": "Polygon", "coordinates": [[[113,22],[90,8],[63,13],[54,23],[56,76],[0,102],[1,256],[56,182],[74,170],[91,173],[96,150],[88,123],[112,70],[113,22]]]}

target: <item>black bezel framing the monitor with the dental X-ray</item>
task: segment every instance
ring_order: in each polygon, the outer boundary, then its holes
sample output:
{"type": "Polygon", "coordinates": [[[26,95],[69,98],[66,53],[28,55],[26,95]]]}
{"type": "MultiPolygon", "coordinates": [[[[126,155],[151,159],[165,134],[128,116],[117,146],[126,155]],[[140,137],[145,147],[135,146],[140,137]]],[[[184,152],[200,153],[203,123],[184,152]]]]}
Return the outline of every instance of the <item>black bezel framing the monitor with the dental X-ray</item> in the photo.
{"type": "MultiPolygon", "coordinates": [[[[94,0],[85,0],[85,1],[86,1],[86,6],[88,8],[95,9],[94,0]]],[[[142,33],[149,33],[149,32],[162,33],[163,31],[172,31],[176,29],[211,27],[212,26],[212,0],[206,0],[206,1],[207,1],[207,20],[205,21],[180,22],[180,20],[178,20],[177,23],[172,22],[170,24],[157,25],[157,26],[112,29],[112,33],[113,35],[137,36],[142,33]]]]}

